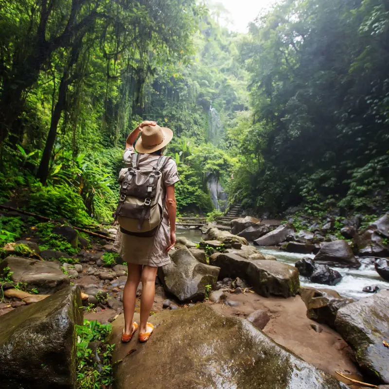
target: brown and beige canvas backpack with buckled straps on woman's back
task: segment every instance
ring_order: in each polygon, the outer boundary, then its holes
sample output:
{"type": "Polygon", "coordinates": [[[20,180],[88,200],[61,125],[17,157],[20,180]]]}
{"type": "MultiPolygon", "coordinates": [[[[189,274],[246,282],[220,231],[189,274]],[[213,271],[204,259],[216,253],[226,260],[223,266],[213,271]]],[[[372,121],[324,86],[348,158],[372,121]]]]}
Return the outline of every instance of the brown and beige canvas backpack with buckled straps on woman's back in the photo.
{"type": "Polygon", "coordinates": [[[154,236],[163,217],[162,172],[170,157],[159,157],[157,165],[139,169],[140,154],[132,154],[131,164],[120,171],[119,205],[115,212],[120,230],[129,235],[154,236]]]}

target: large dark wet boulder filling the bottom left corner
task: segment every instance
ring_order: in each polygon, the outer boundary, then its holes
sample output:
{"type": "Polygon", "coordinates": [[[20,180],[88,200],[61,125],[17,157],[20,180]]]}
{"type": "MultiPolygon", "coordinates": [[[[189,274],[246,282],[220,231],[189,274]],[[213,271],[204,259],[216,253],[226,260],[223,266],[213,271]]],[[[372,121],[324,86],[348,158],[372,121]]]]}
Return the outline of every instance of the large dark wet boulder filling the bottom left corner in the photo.
{"type": "Polygon", "coordinates": [[[0,317],[2,389],[76,386],[76,331],[82,324],[78,286],[0,317]]]}

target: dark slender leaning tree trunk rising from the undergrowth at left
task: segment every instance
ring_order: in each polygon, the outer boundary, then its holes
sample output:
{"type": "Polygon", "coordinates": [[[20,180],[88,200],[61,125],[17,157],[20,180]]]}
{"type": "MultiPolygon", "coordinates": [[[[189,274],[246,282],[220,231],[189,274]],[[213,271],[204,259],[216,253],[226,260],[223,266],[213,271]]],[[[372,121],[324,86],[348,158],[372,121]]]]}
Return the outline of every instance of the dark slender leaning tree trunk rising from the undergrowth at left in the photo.
{"type": "Polygon", "coordinates": [[[49,165],[50,165],[50,159],[52,157],[55,137],[57,135],[57,127],[58,127],[59,120],[61,119],[62,111],[65,109],[66,106],[67,89],[68,89],[68,73],[67,71],[65,71],[61,78],[61,82],[59,84],[58,101],[57,104],[55,104],[52,120],[50,123],[49,134],[47,135],[47,141],[45,144],[45,148],[43,150],[42,159],[40,160],[38,172],[36,174],[36,177],[39,178],[42,184],[46,183],[47,177],[49,175],[49,165]]]}

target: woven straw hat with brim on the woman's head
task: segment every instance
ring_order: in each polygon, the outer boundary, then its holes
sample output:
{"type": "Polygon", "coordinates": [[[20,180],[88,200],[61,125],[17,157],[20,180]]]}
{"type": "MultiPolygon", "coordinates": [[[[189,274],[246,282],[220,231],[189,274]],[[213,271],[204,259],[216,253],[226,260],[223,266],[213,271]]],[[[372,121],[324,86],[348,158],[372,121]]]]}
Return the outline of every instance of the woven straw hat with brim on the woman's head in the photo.
{"type": "Polygon", "coordinates": [[[156,125],[145,125],[141,137],[135,143],[135,150],[141,154],[151,154],[166,146],[173,139],[170,128],[156,125]]]}

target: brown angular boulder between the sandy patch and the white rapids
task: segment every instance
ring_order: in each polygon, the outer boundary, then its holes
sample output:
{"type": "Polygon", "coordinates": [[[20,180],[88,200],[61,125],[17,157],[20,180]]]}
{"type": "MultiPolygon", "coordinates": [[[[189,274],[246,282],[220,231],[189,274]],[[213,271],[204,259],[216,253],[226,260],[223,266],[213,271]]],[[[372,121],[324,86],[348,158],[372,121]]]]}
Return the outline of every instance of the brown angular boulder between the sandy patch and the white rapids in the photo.
{"type": "Polygon", "coordinates": [[[332,289],[301,287],[299,294],[307,307],[307,317],[331,328],[335,328],[338,309],[353,302],[351,299],[342,298],[332,289]]]}

